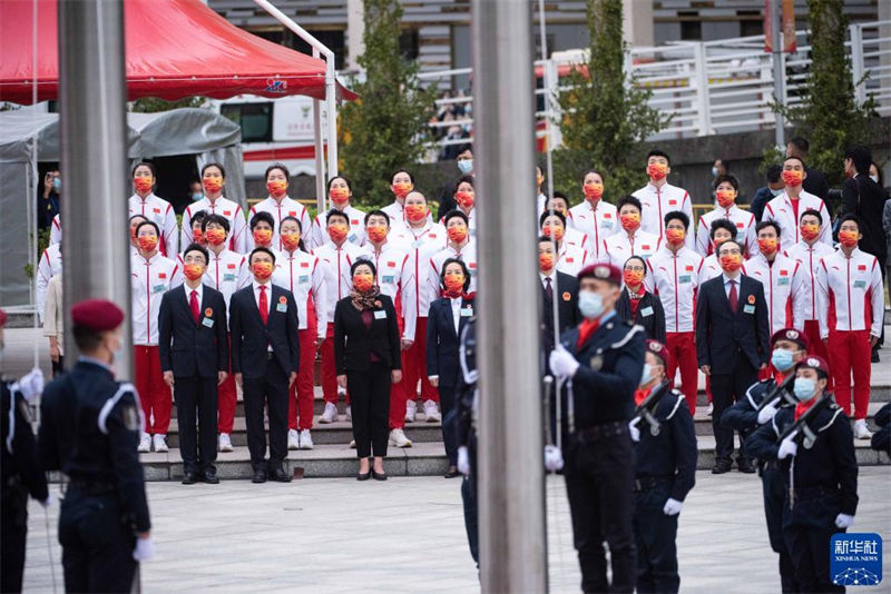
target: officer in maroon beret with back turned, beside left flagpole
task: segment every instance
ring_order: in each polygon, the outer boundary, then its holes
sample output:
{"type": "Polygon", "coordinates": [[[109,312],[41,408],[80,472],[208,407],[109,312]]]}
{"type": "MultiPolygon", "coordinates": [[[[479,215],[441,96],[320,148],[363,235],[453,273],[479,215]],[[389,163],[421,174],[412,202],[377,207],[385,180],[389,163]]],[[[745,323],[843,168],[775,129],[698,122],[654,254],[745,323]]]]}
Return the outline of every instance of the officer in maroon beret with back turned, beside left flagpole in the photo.
{"type": "Polygon", "coordinates": [[[59,516],[68,592],[126,592],[151,557],[148,502],[136,446],[143,419],[131,384],[115,382],[124,311],[105,299],[71,308],[80,357],[40,405],[40,459],[70,483],[59,516]]]}

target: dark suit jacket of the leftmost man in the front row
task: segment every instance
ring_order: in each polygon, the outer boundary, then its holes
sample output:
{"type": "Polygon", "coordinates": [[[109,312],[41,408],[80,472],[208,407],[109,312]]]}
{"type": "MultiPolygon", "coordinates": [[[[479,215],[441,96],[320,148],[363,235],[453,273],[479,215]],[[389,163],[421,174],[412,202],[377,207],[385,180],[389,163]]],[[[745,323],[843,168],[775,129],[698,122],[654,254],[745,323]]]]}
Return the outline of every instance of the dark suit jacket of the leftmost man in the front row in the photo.
{"type": "Polygon", "coordinates": [[[199,311],[196,324],[182,285],[160,298],[158,354],[161,372],[173,372],[175,377],[216,377],[217,372],[228,370],[223,294],[204,285],[199,311]]]}

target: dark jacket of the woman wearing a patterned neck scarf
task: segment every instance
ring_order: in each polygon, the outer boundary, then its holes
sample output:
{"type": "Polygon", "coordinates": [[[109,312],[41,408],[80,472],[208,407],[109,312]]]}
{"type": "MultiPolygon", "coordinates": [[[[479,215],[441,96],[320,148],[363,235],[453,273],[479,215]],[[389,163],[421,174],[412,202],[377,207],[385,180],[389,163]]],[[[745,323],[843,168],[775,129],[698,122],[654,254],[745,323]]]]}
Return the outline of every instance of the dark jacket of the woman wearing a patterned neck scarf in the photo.
{"type": "Polygon", "coordinates": [[[386,367],[402,368],[399,321],[393,300],[386,295],[379,295],[378,300],[381,306],[373,311],[383,311],[385,316],[375,314],[371,329],[365,329],[362,311],[353,306],[350,297],[337,301],[334,308],[334,363],[337,375],[344,375],[347,370],[368,372],[372,353],[386,367]]]}

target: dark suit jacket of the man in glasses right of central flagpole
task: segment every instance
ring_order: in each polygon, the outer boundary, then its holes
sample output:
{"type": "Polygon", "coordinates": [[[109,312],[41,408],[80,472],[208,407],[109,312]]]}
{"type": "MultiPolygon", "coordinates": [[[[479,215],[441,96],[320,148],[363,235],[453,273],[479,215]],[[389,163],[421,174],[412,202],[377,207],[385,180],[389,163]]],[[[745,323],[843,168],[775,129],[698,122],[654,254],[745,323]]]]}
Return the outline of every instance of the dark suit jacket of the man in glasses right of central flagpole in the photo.
{"type": "Polygon", "coordinates": [[[699,367],[708,365],[713,374],[734,373],[740,355],[755,369],[771,357],[764,287],[745,275],[738,279],[736,314],[724,293],[724,275],[703,283],[696,299],[696,355],[699,367]]]}

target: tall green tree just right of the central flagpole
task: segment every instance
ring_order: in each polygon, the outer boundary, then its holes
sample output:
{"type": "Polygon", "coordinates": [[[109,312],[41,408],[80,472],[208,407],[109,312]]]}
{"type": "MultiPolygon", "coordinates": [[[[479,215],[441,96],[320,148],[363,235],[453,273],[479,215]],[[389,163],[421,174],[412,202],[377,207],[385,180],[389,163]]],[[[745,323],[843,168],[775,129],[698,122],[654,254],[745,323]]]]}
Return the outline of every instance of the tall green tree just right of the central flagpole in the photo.
{"type": "Polygon", "coordinates": [[[652,92],[625,71],[621,0],[587,1],[590,55],[587,72],[574,69],[558,98],[564,146],[554,152],[554,182],[577,195],[581,171],[600,169],[615,200],[645,184],[644,141],[670,117],[649,107],[652,92]]]}

